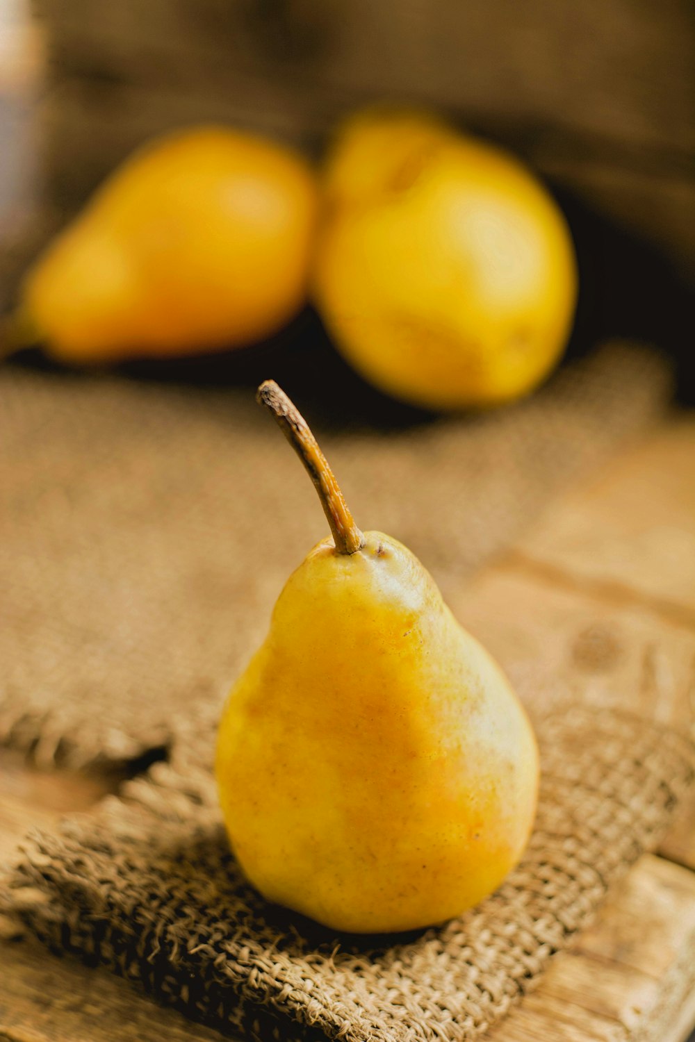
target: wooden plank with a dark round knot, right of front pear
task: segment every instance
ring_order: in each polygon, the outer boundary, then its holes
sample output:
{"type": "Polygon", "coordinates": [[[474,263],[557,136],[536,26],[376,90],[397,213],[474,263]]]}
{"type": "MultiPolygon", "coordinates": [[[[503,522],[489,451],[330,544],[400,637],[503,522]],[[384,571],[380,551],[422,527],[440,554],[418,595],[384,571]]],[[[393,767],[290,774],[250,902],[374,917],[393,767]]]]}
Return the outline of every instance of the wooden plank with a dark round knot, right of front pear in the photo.
{"type": "MultiPolygon", "coordinates": [[[[504,560],[449,597],[532,716],[568,697],[695,734],[695,631],[636,600],[616,603],[504,560]]],[[[695,793],[661,848],[695,868],[695,793]]]]}

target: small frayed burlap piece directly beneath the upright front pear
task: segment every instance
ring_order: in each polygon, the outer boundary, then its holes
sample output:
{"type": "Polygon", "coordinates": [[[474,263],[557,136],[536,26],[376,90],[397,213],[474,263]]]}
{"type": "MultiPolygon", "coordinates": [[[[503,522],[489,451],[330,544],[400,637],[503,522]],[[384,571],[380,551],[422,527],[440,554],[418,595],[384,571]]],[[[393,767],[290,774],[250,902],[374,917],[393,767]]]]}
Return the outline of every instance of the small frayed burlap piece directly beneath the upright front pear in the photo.
{"type": "Polygon", "coordinates": [[[567,709],[539,738],[521,866],[463,918],[404,940],[355,943],[266,904],[227,850],[210,783],[183,796],[167,765],[127,807],[26,844],[10,905],[53,947],[260,1042],[461,1042],[537,983],[693,779],[688,742],[615,712],[567,709]]]}

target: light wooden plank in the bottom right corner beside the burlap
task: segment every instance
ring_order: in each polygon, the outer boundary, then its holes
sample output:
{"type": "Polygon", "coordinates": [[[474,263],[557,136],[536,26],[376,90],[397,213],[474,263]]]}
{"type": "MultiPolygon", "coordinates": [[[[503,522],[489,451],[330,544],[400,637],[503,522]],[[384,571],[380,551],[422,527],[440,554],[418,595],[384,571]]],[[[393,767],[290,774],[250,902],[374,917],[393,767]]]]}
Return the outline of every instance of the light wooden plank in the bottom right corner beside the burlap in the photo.
{"type": "Polygon", "coordinates": [[[694,988],[695,874],[645,854],[533,995],[486,1038],[680,1042],[694,988]]]}

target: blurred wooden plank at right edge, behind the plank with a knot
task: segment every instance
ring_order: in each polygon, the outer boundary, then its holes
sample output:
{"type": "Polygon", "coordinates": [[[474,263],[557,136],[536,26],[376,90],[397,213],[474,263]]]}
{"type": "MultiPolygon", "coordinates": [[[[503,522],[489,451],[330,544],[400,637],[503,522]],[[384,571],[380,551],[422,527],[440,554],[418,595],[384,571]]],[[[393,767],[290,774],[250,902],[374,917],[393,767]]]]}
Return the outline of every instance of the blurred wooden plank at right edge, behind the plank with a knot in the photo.
{"type": "Polygon", "coordinates": [[[553,504],[518,560],[695,624],[695,419],[665,426],[553,504]]]}

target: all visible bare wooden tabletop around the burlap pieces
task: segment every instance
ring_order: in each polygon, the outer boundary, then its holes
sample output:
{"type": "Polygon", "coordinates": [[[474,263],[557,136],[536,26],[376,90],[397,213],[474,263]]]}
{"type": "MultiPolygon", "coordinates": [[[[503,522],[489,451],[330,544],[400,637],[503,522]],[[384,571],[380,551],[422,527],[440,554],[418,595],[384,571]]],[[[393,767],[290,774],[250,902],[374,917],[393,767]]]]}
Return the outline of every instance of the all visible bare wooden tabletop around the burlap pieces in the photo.
{"type": "MultiPolygon", "coordinates": [[[[695,418],[674,415],[546,512],[452,607],[527,701],[546,677],[695,720],[695,418]]],[[[0,753],[0,857],[26,830],[86,810],[114,779],[32,770],[0,753]]],[[[28,938],[0,942],[0,1039],[221,1039],[126,983],[28,938]]],[[[695,795],[593,924],[488,1042],[682,1042],[695,1025],[695,795]]]]}

